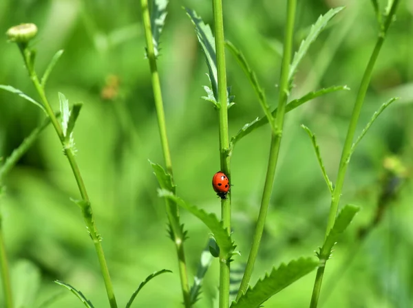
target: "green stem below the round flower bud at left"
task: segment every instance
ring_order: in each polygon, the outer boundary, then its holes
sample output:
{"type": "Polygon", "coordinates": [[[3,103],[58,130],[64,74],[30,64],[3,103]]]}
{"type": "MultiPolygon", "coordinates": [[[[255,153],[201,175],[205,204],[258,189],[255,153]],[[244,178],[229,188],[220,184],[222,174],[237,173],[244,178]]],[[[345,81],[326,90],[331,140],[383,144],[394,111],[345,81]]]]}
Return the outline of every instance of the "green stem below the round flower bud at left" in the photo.
{"type": "Polygon", "coordinates": [[[103,254],[103,248],[100,243],[101,239],[100,236],[98,235],[98,232],[96,230],[96,225],[94,223],[94,217],[93,217],[93,212],[92,208],[90,206],[90,201],[89,197],[87,196],[87,190],[85,187],[85,183],[83,182],[83,178],[81,176],[81,172],[78,168],[78,164],[76,162],[76,159],[74,157],[74,153],[72,151],[72,148],[69,148],[65,144],[65,136],[63,134],[63,130],[61,127],[61,124],[56,118],[56,115],[54,114],[52,107],[50,106],[46,95],[45,95],[45,90],[41,86],[41,83],[39,81],[39,78],[34,71],[34,67],[30,64],[30,51],[28,50],[27,46],[22,46],[19,45],[21,54],[23,55],[23,60],[25,62],[25,66],[28,69],[28,73],[30,76],[30,79],[33,82],[34,87],[36,88],[37,93],[39,94],[41,98],[41,102],[43,104],[43,107],[45,107],[45,110],[47,112],[47,115],[49,115],[50,121],[52,122],[52,125],[54,126],[54,129],[59,136],[59,139],[61,140],[61,144],[63,145],[65,155],[67,157],[67,160],[70,163],[70,166],[72,167],[72,171],[74,174],[74,177],[76,179],[76,183],[78,185],[78,189],[81,192],[81,197],[83,199],[83,203],[85,203],[85,206],[82,206],[82,214],[83,214],[83,219],[85,220],[85,223],[87,225],[87,229],[89,230],[89,234],[92,237],[92,240],[94,242],[94,247],[96,250],[96,254],[98,255],[98,261],[100,265],[100,272],[102,273],[103,276],[103,281],[105,282],[105,287],[106,287],[106,292],[107,292],[107,298],[109,299],[109,304],[111,308],[117,308],[118,305],[116,303],[116,298],[114,294],[114,289],[112,287],[112,281],[109,276],[109,270],[107,268],[106,260],[105,260],[105,255],[103,254]]]}

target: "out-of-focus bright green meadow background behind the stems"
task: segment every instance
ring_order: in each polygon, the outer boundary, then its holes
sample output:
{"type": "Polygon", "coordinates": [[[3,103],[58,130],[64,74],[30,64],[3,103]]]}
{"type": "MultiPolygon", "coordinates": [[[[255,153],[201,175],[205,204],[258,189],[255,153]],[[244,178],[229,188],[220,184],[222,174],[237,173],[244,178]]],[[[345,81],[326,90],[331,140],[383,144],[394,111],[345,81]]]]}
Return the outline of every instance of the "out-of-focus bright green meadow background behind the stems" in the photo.
{"type": "MultiPolygon", "coordinates": [[[[277,100],[284,2],[224,3],[226,39],[244,52],[272,106],[277,100]]],[[[380,2],[383,8],[385,1],[380,2]]],[[[196,10],[206,23],[212,22],[210,1],[169,3],[158,66],[174,176],[180,197],[219,213],[220,201],[211,188],[211,177],[220,168],[218,113],[200,98],[204,96],[202,85],[208,83],[207,66],[182,5],[196,10]]],[[[313,255],[324,239],[328,188],[310,140],[299,125],[306,124],[317,135],[334,181],[354,98],[377,38],[368,0],[298,1],[295,48],[319,15],[337,5],[347,8],[310,48],[299,67],[293,97],[331,85],[348,85],[351,91],[329,94],[286,116],[253,282],[273,265],[313,255]]],[[[362,210],[328,263],[319,307],[413,307],[413,194],[408,181],[413,163],[412,14],[412,1],[401,1],[374,69],[359,131],[381,103],[393,96],[401,99],[372,126],[350,163],[341,204],[354,203],[362,210]],[[386,203],[381,222],[361,243],[358,230],[373,219],[383,200],[389,179],[383,161],[390,155],[399,157],[407,169],[407,180],[396,191],[396,198],[386,203]]],[[[173,274],[151,281],[134,307],[181,307],[165,205],[157,197],[158,184],[147,161],[162,164],[163,158],[149,65],[144,58],[139,1],[0,1],[0,33],[23,22],[36,23],[39,28],[34,43],[39,74],[57,50],[65,50],[47,84],[54,108],[59,108],[58,91],[70,103],[84,103],[74,131],[77,159],[103,236],[118,304],[123,307],[148,274],[167,268],[173,274]]],[[[229,111],[230,135],[234,135],[261,116],[262,110],[229,52],[226,63],[236,102],[229,111]]],[[[5,35],[0,39],[0,84],[37,98],[17,47],[7,43],[5,35]]],[[[0,91],[0,157],[10,155],[42,119],[33,104],[0,91]]],[[[269,133],[268,126],[254,131],[233,153],[233,236],[242,253],[232,263],[235,268],[246,261],[251,245],[266,174],[269,133]]],[[[92,242],[81,213],[70,201],[70,197],[79,197],[75,183],[51,126],[6,180],[1,212],[17,303],[30,296],[40,303],[63,292],[50,307],[83,307],[53,283],[59,279],[80,289],[95,307],[109,307],[92,242]],[[33,289],[38,280],[41,286],[33,289]]],[[[192,282],[209,230],[184,210],[181,216],[189,230],[185,248],[192,282]]],[[[266,307],[308,307],[314,278],[315,272],[268,300],[266,307]]],[[[196,307],[213,307],[217,286],[215,260],[196,307]]]]}

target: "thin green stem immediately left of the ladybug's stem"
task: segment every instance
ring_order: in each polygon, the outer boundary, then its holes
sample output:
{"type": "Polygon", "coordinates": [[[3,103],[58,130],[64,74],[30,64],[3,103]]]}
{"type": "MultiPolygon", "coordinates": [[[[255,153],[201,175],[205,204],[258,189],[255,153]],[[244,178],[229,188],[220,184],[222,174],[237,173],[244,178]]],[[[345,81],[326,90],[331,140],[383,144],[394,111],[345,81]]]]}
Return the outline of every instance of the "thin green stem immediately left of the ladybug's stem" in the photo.
{"type": "MultiPolygon", "coordinates": [[[[165,159],[165,166],[167,167],[167,172],[172,176],[172,162],[171,154],[169,152],[169,144],[167,137],[167,127],[165,124],[165,112],[163,109],[162,102],[162,91],[160,89],[160,79],[158,74],[158,67],[156,65],[155,50],[153,47],[153,37],[151,31],[151,18],[149,16],[149,7],[147,0],[141,0],[140,4],[142,6],[142,19],[145,30],[145,39],[147,43],[147,57],[149,60],[149,67],[151,69],[151,81],[153,88],[153,97],[155,100],[156,115],[158,116],[158,128],[160,134],[160,142],[162,144],[162,152],[165,159]]],[[[171,202],[165,198],[167,216],[169,223],[171,225],[171,230],[173,232],[174,243],[176,245],[176,252],[178,254],[178,267],[180,273],[180,283],[182,289],[182,296],[184,298],[185,307],[191,307],[191,296],[189,294],[189,283],[188,283],[188,273],[187,273],[187,263],[184,254],[184,234],[182,234],[182,228],[180,227],[178,217],[178,207],[175,203],[171,202]]]]}

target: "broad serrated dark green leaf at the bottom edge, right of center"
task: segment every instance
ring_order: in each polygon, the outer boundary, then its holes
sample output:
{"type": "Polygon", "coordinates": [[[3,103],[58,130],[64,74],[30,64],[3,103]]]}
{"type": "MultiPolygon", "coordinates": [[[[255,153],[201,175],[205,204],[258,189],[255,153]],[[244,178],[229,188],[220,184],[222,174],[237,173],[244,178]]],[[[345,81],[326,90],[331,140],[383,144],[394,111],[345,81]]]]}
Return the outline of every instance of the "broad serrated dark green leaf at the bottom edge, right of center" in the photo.
{"type": "Polygon", "coordinates": [[[266,274],[254,287],[248,288],[237,302],[231,304],[231,308],[260,307],[268,298],[315,270],[318,264],[314,259],[300,258],[288,265],[283,263],[278,268],[274,267],[271,274],[266,274]]]}

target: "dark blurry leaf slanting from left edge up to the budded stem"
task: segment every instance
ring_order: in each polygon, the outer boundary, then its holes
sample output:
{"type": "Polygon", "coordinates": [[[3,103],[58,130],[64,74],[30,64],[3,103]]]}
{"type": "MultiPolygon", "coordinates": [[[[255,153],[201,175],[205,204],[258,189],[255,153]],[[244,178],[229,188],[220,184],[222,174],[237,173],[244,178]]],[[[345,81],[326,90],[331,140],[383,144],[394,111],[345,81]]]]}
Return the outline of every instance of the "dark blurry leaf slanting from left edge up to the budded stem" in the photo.
{"type": "MultiPolygon", "coordinates": [[[[58,116],[56,114],[56,116],[58,116]]],[[[28,149],[34,144],[34,142],[37,140],[37,137],[39,137],[40,133],[47,127],[47,125],[50,124],[50,118],[47,117],[39,126],[36,127],[28,135],[28,137],[25,137],[23,142],[19,145],[18,148],[15,148],[14,151],[10,154],[9,157],[6,158],[4,161],[4,164],[0,166],[0,183],[3,181],[4,177],[10,172],[10,170],[17,164],[19,159],[28,151],[28,149]]]]}

